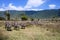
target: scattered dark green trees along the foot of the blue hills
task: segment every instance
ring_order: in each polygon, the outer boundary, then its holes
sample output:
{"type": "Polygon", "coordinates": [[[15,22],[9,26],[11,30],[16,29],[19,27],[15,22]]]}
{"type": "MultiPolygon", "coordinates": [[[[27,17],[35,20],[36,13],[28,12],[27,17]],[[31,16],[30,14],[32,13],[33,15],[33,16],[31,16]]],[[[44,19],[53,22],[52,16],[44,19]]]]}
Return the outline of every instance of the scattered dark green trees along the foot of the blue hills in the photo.
{"type": "MultiPolygon", "coordinates": [[[[60,12],[59,12],[60,13],[60,12]]],[[[4,12],[4,15],[5,15],[5,17],[0,17],[0,20],[11,20],[11,14],[9,13],[9,11],[7,10],[7,11],[5,11],[4,12]]],[[[34,18],[30,18],[30,17],[28,17],[25,13],[20,13],[20,14],[18,14],[17,15],[20,19],[21,19],[21,21],[26,21],[26,20],[28,20],[28,19],[30,19],[31,21],[34,21],[34,18]]],[[[17,17],[16,16],[16,17],[17,17]]],[[[19,19],[19,18],[16,18],[16,19],[19,19]]],[[[35,16],[36,17],[36,16],[35,16]]],[[[52,17],[52,21],[54,21],[54,19],[56,19],[56,17],[57,16],[53,16],[52,17]]],[[[57,17],[58,18],[58,17],[57,17]]],[[[16,19],[14,19],[14,20],[16,20],[16,19]]],[[[38,19],[39,20],[39,19],[38,19]]]]}

